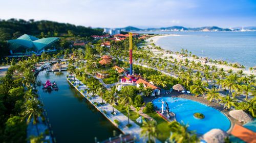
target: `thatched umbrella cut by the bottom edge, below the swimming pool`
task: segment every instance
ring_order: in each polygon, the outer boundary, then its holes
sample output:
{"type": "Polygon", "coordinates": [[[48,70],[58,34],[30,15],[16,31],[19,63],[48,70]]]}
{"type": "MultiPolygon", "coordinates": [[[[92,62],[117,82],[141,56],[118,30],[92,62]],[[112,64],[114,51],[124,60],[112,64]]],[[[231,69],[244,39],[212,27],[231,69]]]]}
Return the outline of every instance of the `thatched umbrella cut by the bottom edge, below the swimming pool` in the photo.
{"type": "Polygon", "coordinates": [[[219,143],[224,142],[227,136],[228,134],[221,129],[211,129],[203,135],[203,138],[207,143],[219,143]]]}

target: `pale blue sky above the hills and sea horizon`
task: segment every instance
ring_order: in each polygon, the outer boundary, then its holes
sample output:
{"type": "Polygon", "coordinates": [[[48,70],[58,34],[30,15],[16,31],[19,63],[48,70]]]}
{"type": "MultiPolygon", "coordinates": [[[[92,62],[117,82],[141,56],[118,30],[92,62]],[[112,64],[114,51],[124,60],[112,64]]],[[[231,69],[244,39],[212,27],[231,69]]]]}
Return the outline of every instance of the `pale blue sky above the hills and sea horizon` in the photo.
{"type": "Polygon", "coordinates": [[[0,19],[101,28],[256,26],[256,0],[1,0],[0,19]]]}

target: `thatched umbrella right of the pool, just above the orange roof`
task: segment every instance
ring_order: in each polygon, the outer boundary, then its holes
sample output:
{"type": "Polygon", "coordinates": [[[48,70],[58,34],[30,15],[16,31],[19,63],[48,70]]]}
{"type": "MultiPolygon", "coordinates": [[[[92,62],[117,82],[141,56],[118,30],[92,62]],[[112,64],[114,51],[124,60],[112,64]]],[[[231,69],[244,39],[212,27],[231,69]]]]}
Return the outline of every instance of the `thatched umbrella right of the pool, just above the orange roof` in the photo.
{"type": "Polygon", "coordinates": [[[233,110],[233,111],[230,111],[229,115],[231,117],[235,118],[236,120],[238,120],[239,122],[250,122],[250,121],[253,121],[253,118],[251,117],[251,115],[247,114],[243,110],[233,110]]]}

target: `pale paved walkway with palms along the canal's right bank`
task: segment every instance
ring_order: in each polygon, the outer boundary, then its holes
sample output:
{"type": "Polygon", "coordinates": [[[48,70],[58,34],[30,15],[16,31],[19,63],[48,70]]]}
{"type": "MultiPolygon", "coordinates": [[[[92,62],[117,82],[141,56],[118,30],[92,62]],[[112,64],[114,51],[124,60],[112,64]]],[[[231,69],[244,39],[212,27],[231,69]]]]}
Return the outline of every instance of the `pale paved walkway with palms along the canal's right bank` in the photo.
{"type": "MultiPolygon", "coordinates": [[[[70,76],[70,79],[73,79],[73,76],[70,76]]],[[[82,84],[76,87],[78,85],[78,79],[76,79],[76,82],[74,84],[71,83],[71,81],[68,80],[81,94],[84,98],[86,98],[96,109],[98,109],[112,124],[114,124],[116,127],[118,127],[124,134],[132,134],[136,137],[137,142],[145,142],[142,137],[140,137],[141,129],[140,127],[133,121],[130,120],[130,124],[132,127],[128,128],[126,125],[128,124],[127,116],[122,114],[119,110],[114,108],[114,111],[117,113],[116,115],[112,115],[111,112],[113,112],[112,105],[109,103],[106,103],[106,101],[103,100],[105,103],[104,105],[100,105],[102,99],[99,96],[96,96],[94,98],[91,98],[91,94],[88,94],[87,92],[82,93],[81,90],[87,89],[87,86],[82,84]],[[89,98],[88,98],[89,97],[89,98]],[[94,103],[98,103],[98,106],[96,106],[94,103]],[[105,113],[104,113],[105,112],[105,113]],[[114,120],[119,121],[119,125],[117,125],[114,120]]],[[[157,142],[160,142],[157,140],[157,142]]]]}

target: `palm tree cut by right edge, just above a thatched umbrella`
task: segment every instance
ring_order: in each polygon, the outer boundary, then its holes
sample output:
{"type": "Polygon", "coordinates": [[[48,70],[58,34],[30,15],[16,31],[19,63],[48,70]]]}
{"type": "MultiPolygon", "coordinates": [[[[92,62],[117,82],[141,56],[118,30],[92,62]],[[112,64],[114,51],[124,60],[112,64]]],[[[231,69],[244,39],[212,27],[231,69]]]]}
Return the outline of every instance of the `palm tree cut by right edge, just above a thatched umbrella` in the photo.
{"type": "Polygon", "coordinates": [[[238,104],[239,106],[237,107],[237,109],[241,109],[244,111],[249,112],[252,117],[256,117],[256,115],[254,114],[255,112],[255,105],[256,105],[256,98],[254,97],[251,100],[246,100],[245,102],[241,102],[238,104]]]}

